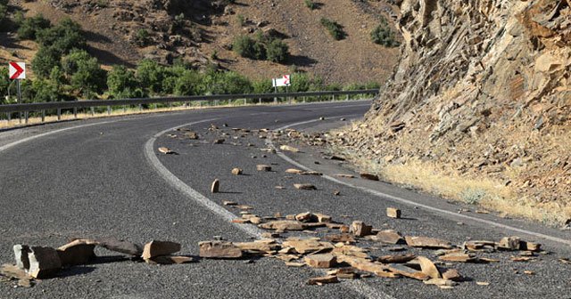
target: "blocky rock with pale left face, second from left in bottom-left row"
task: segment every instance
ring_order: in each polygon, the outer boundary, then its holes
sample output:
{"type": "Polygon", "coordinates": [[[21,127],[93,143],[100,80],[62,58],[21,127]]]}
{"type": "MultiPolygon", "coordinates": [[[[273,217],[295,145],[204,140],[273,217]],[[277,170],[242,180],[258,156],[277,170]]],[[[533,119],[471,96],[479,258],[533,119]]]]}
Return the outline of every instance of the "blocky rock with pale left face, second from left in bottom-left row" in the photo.
{"type": "Polygon", "coordinates": [[[57,251],[52,247],[34,246],[30,248],[29,276],[35,279],[45,279],[54,275],[62,268],[62,262],[57,251]]]}

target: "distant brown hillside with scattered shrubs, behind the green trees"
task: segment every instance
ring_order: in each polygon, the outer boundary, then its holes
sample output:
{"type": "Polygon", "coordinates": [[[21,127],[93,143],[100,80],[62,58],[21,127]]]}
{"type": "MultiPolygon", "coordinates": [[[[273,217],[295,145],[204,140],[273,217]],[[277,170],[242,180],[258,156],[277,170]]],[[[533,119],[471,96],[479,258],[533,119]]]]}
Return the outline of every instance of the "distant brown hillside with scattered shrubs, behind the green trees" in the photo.
{"type": "MultiPolygon", "coordinates": [[[[104,64],[134,65],[143,58],[170,63],[184,59],[196,67],[214,63],[249,77],[276,77],[294,70],[323,77],[326,83],[384,82],[397,61],[398,49],[371,42],[370,32],[395,6],[385,0],[11,0],[26,15],[42,13],[53,22],[79,22],[88,43],[104,64]],[[343,25],[346,38],[335,41],[319,23],[321,17],[343,25]],[[231,51],[236,36],[254,31],[282,36],[290,59],[283,64],[252,61],[231,51]]],[[[15,38],[0,38],[6,53],[33,53],[15,38]],[[14,44],[15,43],[15,44],[14,44]]],[[[1,49],[0,49],[1,50],[1,49]]],[[[0,51],[1,52],[1,51],[0,51]]],[[[0,56],[1,58],[1,56],[0,56]]],[[[4,57],[9,59],[10,57],[4,57]]]]}

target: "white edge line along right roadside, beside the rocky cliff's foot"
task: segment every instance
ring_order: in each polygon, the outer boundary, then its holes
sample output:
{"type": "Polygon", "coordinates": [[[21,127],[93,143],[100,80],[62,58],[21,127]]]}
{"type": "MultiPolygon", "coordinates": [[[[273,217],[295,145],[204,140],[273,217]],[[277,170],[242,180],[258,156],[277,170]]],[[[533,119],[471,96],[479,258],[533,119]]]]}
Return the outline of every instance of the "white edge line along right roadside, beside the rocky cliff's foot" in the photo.
{"type": "MultiPolygon", "coordinates": [[[[292,126],[296,126],[296,125],[306,125],[306,124],[315,123],[315,122],[318,122],[318,121],[319,121],[318,119],[314,119],[314,120],[310,120],[310,121],[304,121],[304,122],[299,122],[299,123],[295,123],[295,124],[284,125],[284,126],[282,126],[282,127],[280,127],[280,128],[277,128],[276,130],[285,130],[285,129],[290,128],[290,127],[292,127],[292,126]]],[[[275,146],[274,146],[274,144],[273,144],[273,142],[272,142],[271,136],[269,136],[269,138],[266,140],[266,144],[268,144],[270,147],[273,147],[273,148],[275,149],[275,146]]],[[[311,169],[310,167],[304,166],[304,165],[298,163],[297,161],[294,161],[294,159],[287,157],[287,156],[286,156],[283,152],[281,152],[280,150],[278,150],[278,149],[276,149],[276,150],[277,150],[277,156],[279,156],[280,158],[283,158],[283,159],[284,159],[285,161],[287,161],[288,163],[291,163],[292,165],[297,166],[297,167],[299,167],[299,168],[301,168],[301,169],[303,169],[303,170],[305,170],[305,171],[312,171],[312,169],[311,169]]],[[[409,200],[409,199],[406,199],[406,198],[400,198],[400,197],[396,197],[396,196],[393,196],[393,195],[385,194],[385,193],[380,192],[380,191],[377,191],[377,190],[371,190],[371,189],[368,189],[368,188],[366,188],[366,187],[356,186],[356,185],[354,185],[354,184],[352,184],[352,183],[350,183],[350,182],[343,182],[343,181],[337,180],[337,179],[335,179],[334,177],[331,177],[331,176],[329,176],[329,175],[327,175],[327,174],[322,175],[322,177],[325,178],[325,179],[327,179],[327,180],[329,180],[329,181],[331,181],[331,182],[336,182],[336,183],[345,185],[345,186],[347,186],[347,187],[351,187],[351,188],[354,188],[354,189],[362,190],[362,191],[365,191],[365,192],[367,192],[367,193],[369,193],[369,194],[375,195],[375,196],[380,197],[380,198],[390,198],[390,199],[393,199],[394,201],[398,201],[398,202],[401,202],[401,203],[404,203],[404,204],[407,204],[407,205],[410,205],[410,206],[420,206],[420,207],[425,208],[426,210],[434,211],[434,212],[437,212],[437,213],[440,213],[440,214],[448,214],[448,215],[451,215],[451,216],[454,216],[454,217],[463,218],[463,219],[468,219],[468,220],[474,221],[474,222],[481,222],[481,223],[489,224],[489,225],[492,225],[492,226],[495,226],[495,227],[497,227],[497,228],[501,228],[501,229],[504,229],[504,230],[512,230],[512,231],[519,232],[519,233],[523,233],[523,234],[526,234],[526,235],[529,235],[529,236],[534,236],[534,237],[537,237],[537,238],[544,238],[544,239],[548,239],[548,240],[550,240],[550,241],[554,241],[554,242],[558,242],[558,243],[561,243],[561,244],[565,244],[565,245],[571,246],[571,240],[567,240],[567,239],[564,239],[564,238],[557,238],[557,237],[549,236],[549,235],[546,235],[546,234],[542,234],[541,232],[535,232],[535,231],[531,231],[531,230],[518,229],[518,228],[516,228],[516,227],[509,226],[509,225],[507,225],[507,224],[502,224],[502,223],[498,223],[498,222],[493,222],[493,221],[491,221],[491,220],[481,219],[481,218],[477,218],[477,217],[470,216],[470,215],[467,215],[467,214],[458,214],[458,213],[454,213],[454,212],[451,212],[451,211],[448,211],[448,210],[444,210],[444,209],[441,209],[441,208],[437,208],[437,207],[434,207],[434,206],[427,206],[427,205],[420,204],[420,203],[417,203],[417,202],[415,202],[415,201],[412,201],[412,200],[409,200]]]]}

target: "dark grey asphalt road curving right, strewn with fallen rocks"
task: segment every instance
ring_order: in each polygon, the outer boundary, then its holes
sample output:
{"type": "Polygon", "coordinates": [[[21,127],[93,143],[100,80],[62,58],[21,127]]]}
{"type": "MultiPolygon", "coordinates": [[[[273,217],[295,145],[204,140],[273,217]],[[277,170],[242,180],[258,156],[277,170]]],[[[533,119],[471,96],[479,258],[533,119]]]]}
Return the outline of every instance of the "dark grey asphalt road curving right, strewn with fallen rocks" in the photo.
{"type": "MultiPolygon", "coordinates": [[[[0,283],[0,298],[571,298],[571,265],[558,260],[571,256],[568,231],[493,214],[468,213],[466,218],[466,214],[456,213],[461,206],[382,182],[347,179],[343,184],[326,177],[285,174],[286,168],[298,166],[261,151],[268,147],[267,140],[257,133],[241,136],[231,130],[287,125],[328,129],[343,125],[340,117],[360,117],[367,109],[365,101],[203,109],[0,133],[0,263],[13,263],[14,244],[61,246],[70,238],[116,237],[138,243],[172,240],[182,244],[182,254],[197,255],[198,242],[214,236],[232,241],[258,237],[259,230],[254,227],[228,222],[228,217],[239,213],[221,206],[224,200],[253,206],[259,215],[320,212],[338,221],[362,220],[375,228],[446,238],[455,244],[518,235],[542,243],[550,255],[541,255],[533,263],[515,263],[509,256],[517,253],[493,253],[482,256],[500,259],[500,263],[454,264],[468,281],[445,290],[412,279],[379,278],[315,287],[306,281],[321,272],[287,268],[275,259],[156,266],[114,261],[114,254],[98,250],[98,255],[111,257],[67,269],[58,278],[39,281],[32,288],[0,283]],[[316,121],[319,117],[326,120],[316,121]],[[208,130],[211,124],[220,130],[208,130]],[[201,139],[168,136],[179,133],[172,129],[181,125],[192,128],[201,139]],[[226,141],[212,144],[217,138],[226,141]],[[161,146],[178,155],[161,155],[156,150],[161,146]],[[271,165],[274,171],[257,172],[257,164],[271,165]],[[230,174],[233,167],[243,168],[246,175],[230,174]],[[211,194],[215,178],[220,180],[222,192],[211,194]],[[295,190],[294,182],[310,182],[318,190],[295,190]],[[277,185],[285,189],[278,190],[277,185]],[[342,195],[335,197],[334,190],[342,195]],[[404,219],[387,218],[386,206],[401,208],[404,219]],[[534,271],[534,275],[524,271],[534,271]],[[490,284],[479,286],[476,281],[490,284]]],[[[286,154],[324,174],[350,172],[346,166],[322,158],[318,150],[286,154]]],[[[371,255],[387,254],[383,246],[367,246],[371,255]]],[[[410,252],[434,259],[431,250],[410,252]]]]}

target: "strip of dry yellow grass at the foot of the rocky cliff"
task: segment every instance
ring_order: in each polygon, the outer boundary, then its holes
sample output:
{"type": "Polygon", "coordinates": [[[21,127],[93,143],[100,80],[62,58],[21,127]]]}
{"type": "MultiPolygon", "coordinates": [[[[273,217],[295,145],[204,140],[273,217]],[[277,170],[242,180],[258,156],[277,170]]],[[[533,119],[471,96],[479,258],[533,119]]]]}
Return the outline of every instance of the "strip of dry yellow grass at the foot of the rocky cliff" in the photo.
{"type": "Polygon", "coordinates": [[[386,164],[384,161],[360,158],[347,150],[341,151],[354,165],[379,174],[386,182],[414,187],[438,197],[547,225],[557,226],[571,218],[571,205],[562,206],[555,202],[537,205],[527,198],[519,198],[516,190],[510,186],[489,178],[472,179],[457,174],[443,174],[441,167],[418,159],[408,160],[404,164],[386,164]]]}

